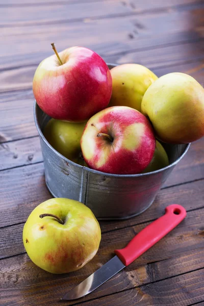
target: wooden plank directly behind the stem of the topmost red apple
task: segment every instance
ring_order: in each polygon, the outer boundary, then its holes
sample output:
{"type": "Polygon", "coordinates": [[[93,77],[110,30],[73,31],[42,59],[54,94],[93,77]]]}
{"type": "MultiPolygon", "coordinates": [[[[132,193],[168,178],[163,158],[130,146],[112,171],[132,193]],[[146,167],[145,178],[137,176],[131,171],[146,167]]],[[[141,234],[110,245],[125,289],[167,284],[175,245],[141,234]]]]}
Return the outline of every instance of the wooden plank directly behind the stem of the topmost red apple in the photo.
{"type": "Polygon", "coordinates": [[[72,45],[83,45],[106,56],[130,52],[131,49],[136,51],[199,39],[204,36],[203,15],[204,8],[90,22],[85,20],[70,24],[60,23],[57,27],[50,24],[3,28],[0,37],[6,44],[2,44],[1,48],[0,69],[37,65],[52,55],[52,41],[56,42],[58,50],[72,45]],[[163,26],[160,27],[160,24],[163,26]]]}

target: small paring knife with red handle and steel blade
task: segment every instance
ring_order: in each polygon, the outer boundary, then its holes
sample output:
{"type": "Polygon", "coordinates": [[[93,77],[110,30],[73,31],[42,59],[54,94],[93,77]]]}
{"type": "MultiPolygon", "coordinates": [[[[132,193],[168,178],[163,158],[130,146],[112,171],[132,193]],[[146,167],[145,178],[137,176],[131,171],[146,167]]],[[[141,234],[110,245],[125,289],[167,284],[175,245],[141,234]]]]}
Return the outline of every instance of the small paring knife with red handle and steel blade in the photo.
{"type": "Polygon", "coordinates": [[[89,294],[140,257],[141,254],[173,230],[185,217],[186,210],[181,205],[172,204],[167,206],[162,217],[147,225],[123,249],[115,250],[116,256],[77,287],[71,289],[61,299],[73,300],[89,294]]]}

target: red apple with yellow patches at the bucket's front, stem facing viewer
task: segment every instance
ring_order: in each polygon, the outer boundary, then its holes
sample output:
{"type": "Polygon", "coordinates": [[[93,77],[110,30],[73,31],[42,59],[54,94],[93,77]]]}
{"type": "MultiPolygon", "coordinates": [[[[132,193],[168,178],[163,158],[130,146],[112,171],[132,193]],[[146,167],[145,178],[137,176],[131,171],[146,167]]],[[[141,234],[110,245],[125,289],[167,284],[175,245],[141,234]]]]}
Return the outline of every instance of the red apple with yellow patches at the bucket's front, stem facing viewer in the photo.
{"type": "Polygon", "coordinates": [[[87,165],[114,174],[140,173],[150,163],[155,146],[148,119],[126,106],[95,114],[87,122],[81,139],[87,165]]]}

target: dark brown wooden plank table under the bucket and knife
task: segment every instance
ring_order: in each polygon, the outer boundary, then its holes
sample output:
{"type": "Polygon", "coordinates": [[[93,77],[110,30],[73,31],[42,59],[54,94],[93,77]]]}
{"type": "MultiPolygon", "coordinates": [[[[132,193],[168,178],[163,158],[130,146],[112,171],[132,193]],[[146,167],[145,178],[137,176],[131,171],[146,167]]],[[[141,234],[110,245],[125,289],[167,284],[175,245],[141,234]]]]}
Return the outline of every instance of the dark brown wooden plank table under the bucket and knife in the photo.
{"type": "Polygon", "coordinates": [[[90,295],[66,305],[204,305],[204,138],[175,167],[154,204],[126,221],[100,222],[94,259],[77,272],[47,273],[23,248],[31,211],[51,197],[33,120],[39,62],[72,45],[107,62],[136,62],[158,76],[181,71],[203,84],[204,3],[199,0],[1,0],[0,3],[1,306],[60,305],[60,297],[113,256],[171,203],[187,218],[137,261],[90,295]]]}

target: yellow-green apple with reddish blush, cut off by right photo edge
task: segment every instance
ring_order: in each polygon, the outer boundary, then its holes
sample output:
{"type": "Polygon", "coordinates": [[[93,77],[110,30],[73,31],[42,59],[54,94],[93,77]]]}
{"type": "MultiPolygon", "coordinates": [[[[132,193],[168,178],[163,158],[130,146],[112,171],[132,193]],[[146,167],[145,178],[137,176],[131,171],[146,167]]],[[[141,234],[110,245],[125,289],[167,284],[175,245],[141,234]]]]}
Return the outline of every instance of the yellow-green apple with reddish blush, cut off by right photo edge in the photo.
{"type": "Polygon", "coordinates": [[[204,89],[188,74],[163,75],[145,92],[141,109],[163,142],[189,143],[204,135],[204,89]]]}

